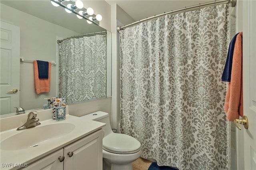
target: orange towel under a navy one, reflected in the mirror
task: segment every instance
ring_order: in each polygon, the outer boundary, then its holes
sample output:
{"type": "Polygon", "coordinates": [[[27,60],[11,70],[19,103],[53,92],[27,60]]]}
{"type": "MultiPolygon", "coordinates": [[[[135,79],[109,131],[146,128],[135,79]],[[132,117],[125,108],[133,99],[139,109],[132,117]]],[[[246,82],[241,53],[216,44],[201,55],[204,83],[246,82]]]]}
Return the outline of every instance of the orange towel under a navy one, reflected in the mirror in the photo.
{"type": "Polygon", "coordinates": [[[34,76],[35,76],[36,94],[41,94],[43,92],[50,92],[51,63],[49,62],[48,79],[39,79],[37,61],[34,61],[34,76]]]}

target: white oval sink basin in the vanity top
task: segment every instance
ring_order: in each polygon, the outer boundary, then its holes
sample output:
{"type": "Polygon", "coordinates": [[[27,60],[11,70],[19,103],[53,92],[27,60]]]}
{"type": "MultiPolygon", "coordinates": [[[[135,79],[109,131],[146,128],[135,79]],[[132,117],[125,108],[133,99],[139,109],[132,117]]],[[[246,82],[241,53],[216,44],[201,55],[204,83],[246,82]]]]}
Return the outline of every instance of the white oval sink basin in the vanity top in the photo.
{"type": "Polygon", "coordinates": [[[59,139],[72,132],[75,125],[72,123],[54,123],[38,125],[19,131],[1,142],[1,150],[21,150],[43,145],[52,140],[59,139]]]}

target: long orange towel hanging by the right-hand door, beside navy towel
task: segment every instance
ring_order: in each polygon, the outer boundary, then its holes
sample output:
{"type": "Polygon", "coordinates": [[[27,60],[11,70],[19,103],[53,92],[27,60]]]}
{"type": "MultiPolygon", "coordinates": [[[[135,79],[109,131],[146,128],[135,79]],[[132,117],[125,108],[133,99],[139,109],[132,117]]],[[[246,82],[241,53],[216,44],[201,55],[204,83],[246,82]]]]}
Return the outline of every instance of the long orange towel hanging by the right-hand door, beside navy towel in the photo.
{"type": "Polygon", "coordinates": [[[231,80],[228,82],[228,90],[225,98],[224,111],[228,121],[243,117],[243,68],[242,68],[242,36],[240,32],[236,37],[234,47],[231,80]]]}

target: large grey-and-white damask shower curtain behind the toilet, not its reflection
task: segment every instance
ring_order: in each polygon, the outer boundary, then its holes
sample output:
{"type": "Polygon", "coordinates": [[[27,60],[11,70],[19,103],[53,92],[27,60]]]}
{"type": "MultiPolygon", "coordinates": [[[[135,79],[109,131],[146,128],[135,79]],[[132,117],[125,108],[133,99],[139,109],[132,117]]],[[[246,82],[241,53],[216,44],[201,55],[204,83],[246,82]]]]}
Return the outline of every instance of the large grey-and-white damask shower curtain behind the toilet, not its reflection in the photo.
{"type": "Polygon", "coordinates": [[[180,170],[229,168],[228,20],[222,4],[119,32],[120,132],[140,141],[141,157],[180,170]]]}

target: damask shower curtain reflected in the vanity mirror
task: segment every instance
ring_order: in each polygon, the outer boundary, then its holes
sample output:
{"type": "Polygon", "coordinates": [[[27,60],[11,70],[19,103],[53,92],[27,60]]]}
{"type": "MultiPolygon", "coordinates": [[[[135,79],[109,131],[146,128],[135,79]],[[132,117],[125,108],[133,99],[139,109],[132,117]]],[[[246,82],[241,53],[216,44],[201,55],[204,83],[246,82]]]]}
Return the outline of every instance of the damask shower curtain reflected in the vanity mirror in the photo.
{"type": "Polygon", "coordinates": [[[58,77],[68,103],[106,97],[106,34],[62,41],[58,77]]]}

